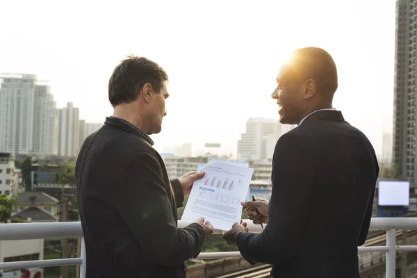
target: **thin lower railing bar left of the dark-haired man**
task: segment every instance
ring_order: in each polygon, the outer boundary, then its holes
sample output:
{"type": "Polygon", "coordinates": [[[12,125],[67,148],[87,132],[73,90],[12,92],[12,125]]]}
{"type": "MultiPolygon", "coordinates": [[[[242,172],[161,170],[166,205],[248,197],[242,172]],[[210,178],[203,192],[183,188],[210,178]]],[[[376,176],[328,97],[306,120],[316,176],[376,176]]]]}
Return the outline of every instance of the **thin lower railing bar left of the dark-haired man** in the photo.
{"type": "Polygon", "coordinates": [[[46,268],[48,266],[60,265],[81,265],[83,260],[81,258],[68,259],[51,259],[40,261],[12,261],[9,263],[0,263],[0,270],[12,270],[21,268],[46,268]]]}

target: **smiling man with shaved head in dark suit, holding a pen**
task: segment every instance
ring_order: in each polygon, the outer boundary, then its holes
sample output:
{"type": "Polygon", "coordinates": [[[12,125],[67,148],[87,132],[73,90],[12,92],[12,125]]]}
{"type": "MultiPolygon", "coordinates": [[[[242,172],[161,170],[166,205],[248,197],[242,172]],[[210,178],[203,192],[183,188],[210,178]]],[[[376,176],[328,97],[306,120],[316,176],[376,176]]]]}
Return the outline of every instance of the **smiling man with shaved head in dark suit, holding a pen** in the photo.
{"type": "Polygon", "coordinates": [[[325,50],[295,51],[277,83],[280,122],[298,126],[275,147],[269,204],[243,202],[255,224],[267,225],[250,234],[235,223],[224,238],[247,261],[272,264],[273,277],[359,277],[357,246],[368,234],[379,172],[374,149],[332,106],[337,72],[325,50]]]}

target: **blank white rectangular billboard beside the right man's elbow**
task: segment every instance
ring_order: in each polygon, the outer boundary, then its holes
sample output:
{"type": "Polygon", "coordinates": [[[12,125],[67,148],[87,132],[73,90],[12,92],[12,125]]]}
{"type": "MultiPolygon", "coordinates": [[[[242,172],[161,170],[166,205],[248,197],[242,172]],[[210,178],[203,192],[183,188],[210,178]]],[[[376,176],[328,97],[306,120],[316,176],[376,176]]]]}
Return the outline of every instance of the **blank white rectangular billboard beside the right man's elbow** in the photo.
{"type": "Polygon", "coordinates": [[[409,206],[409,181],[379,181],[378,206],[409,206]]]}

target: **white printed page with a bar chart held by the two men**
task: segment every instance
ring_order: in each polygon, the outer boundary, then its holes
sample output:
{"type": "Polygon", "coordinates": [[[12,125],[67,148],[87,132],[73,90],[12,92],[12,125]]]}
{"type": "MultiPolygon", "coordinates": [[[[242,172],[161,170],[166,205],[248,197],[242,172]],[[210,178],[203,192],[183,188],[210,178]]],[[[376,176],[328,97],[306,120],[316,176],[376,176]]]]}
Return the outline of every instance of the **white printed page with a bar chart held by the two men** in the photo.
{"type": "MultiPolygon", "coordinates": [[[[212,161],[204,167],[206,174],[194,182],[181,220],[194,222],[204,216],[215,229],[229,230],[240,222],[242,205],[254,170],[241,165],[212,161]]],[[[201,166],[200,166],[201,167],[201,166]]]]}

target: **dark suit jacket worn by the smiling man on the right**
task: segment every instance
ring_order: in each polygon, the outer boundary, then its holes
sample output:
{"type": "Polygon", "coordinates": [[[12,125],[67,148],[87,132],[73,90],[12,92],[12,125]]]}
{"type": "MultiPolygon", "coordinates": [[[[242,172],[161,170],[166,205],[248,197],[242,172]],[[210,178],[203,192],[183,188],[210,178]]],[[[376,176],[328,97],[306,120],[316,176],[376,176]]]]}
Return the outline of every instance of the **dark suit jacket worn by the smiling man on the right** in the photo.
{"type": "Polygon", "coordinates": [[[359,277],[378,172],[369,140],[340,111],[309,115],[279,138],[268,225],[238,234],[240,253],[272,264],[273,277],[359,277]]]}

